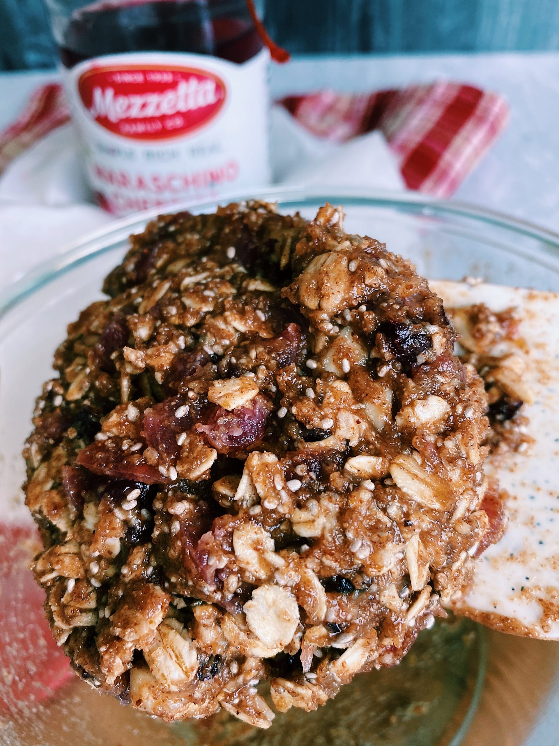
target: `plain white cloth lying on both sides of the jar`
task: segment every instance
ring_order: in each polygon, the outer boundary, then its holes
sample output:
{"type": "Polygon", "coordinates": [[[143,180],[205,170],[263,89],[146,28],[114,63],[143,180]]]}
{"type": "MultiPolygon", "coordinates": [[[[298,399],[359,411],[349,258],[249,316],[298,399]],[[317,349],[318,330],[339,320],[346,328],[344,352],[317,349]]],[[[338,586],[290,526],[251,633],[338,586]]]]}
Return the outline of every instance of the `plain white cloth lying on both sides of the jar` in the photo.
{"type": "MultiPolygon", "coordinates": [[[[379,132],[338,145],[314,137],[282,107],[271,116],[274,181],[326,189],[404,189],[379,132]]],[[[0,289],[69,243],[110,223],[92,204],[72,125],[59,127],[16,158],[0,178],[0,289]]]]}

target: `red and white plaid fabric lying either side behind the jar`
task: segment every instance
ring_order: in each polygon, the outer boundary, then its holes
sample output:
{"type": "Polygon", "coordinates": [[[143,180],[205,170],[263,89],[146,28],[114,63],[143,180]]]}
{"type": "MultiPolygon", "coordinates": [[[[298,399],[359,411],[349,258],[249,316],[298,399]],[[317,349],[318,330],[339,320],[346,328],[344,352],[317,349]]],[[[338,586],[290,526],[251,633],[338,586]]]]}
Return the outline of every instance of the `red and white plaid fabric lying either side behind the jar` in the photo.
{"type": "MultiPolygon", "coordinates": [[[[508,121],[501,96],[446,81],[356,95],[325,90],[280,103],[312,134],[334,142],[379,129],[408,188],[437,197],[455,192],[508,121]]],[[[0,173],[68,119],[59,85],[37,90],[18,121],[0,134],[0,173]]]]}

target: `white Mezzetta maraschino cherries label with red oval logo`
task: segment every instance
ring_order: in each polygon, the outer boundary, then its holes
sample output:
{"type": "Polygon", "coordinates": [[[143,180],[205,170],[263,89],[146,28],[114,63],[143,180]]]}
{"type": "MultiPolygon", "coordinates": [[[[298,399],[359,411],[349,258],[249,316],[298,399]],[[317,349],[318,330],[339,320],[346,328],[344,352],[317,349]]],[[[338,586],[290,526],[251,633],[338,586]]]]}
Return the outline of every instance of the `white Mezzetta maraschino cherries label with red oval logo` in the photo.
{"type": "Polygon", "coordinates": [[[116,215],[269,181],[266,50],[107,54],[67,70],[66,91],[89,185],[116,215]]]}

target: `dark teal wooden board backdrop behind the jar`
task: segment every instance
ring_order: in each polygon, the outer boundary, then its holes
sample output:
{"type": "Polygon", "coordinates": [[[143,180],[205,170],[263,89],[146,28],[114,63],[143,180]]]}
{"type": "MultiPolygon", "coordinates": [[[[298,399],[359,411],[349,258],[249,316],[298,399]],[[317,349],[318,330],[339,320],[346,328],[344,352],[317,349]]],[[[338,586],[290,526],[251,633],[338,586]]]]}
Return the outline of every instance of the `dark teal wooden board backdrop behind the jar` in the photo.
{"type": "MultiPolygon", "coordinates": [[[[559,0],[265,0],[293,53],[559,49],[559,0]]],[[[42,0],[0,0],[0,69],[52,67],[42,0]]]]}

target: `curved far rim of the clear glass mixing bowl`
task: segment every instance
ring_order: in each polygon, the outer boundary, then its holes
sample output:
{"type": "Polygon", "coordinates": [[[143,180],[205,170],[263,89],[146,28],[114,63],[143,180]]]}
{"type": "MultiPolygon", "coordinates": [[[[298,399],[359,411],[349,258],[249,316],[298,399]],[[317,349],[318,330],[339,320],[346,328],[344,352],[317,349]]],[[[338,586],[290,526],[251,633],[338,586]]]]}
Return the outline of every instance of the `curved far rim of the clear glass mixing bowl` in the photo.
{"type": "Polygon", "coordinates": [[[157,216],[180,212],[181,210],[215,209],[216,204],[227,204],[227,202],[247,199],[265,199],[266,201],[288,204],[304,203],[306,201],[351,201],[353,206],[362,204],[363,206],[385,208],[408,208],[408,210],[413,210],[414,213],[423,214],[426,217],[452,216],[470,219],[479,224],[490,225],[494,228],[505,228],[527,238],[536,239],[549,245],[547,253],[553,253],[556,257],[559,257],[559,233],[507,213],[490,210],[487,207],[468,202],[426,197],[417,192],[391,192],[343,186],[339,188],[335,186],[331,188],[321,187],[320,189],[297,185],[262,186],[250,190],[243,189],[242,191],[237,189],[225,192],[223,195],[217,195],[214,198],[193,198],[171,203],[164,207],[143,210],[139,213],[133,213],[131,216],[116,219],[95,231],[84,234],[77,241],[64,244],[59,254],[38,263],[20,278],[4,286],[0,298],[0,320],[10,309],[24,301],[36,290],[48,285],[52,280],[59,278],[91,257],[110,250],[116,242],[127,239],[130,233],[141,230],[146,222],[157,218],[157,216]]]}

